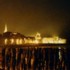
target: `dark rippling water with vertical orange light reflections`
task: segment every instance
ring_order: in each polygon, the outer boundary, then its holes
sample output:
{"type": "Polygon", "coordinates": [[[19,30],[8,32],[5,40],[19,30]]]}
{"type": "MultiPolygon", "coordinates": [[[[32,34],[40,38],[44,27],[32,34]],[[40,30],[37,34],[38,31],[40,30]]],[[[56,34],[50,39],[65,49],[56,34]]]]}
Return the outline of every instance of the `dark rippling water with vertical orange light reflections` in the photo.
{"type": "Polygon", "coordinates": [[[2,48],[1,51],[0,70],[69,69],[69,48],[2,48]]]}

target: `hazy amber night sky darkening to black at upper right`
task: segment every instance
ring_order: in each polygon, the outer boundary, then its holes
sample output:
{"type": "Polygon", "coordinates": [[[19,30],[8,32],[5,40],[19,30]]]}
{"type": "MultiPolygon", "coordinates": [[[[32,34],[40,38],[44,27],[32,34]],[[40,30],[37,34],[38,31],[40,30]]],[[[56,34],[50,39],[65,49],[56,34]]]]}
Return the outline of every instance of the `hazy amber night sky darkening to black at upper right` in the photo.
{"type": "Polygon", "coordinates": [[[8,30],[24,35],[66,35],[70,32],[68,0],[0,0],[0,33],[8,30]]]}

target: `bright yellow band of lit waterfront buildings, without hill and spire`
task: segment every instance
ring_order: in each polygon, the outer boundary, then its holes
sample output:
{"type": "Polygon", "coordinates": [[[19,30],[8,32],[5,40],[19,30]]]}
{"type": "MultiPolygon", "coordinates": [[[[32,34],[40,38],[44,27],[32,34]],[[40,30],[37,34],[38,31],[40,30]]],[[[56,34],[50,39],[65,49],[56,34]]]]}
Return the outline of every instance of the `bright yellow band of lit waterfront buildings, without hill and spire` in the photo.
{"type": "Polygon", "coordinates": [[[23,45],[23,44],[65,44],[66,39],[59,38],[58,36],[55,37],[41,37],[40,33],[37,33],[34,38],[11,38],[5,39],[5,44],[16,44],[16,45],[23,45]]]}

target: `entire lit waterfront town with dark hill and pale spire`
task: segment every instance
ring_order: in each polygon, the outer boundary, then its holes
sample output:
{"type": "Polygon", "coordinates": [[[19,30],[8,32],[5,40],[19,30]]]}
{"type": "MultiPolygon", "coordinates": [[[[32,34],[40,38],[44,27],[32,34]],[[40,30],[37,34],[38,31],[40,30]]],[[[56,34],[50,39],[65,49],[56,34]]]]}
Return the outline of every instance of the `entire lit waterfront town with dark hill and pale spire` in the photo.
{"type": "Polygon", "coordinates": [[[5,25],[4,33],[0,34],[1,45],[23,45],[23,44],[64,44],[66,39],[55,37],[41,37],[40,33],[37,33],[34,37],[24,36],[17,32],[9,32],[7,25],[5,25]]]}

